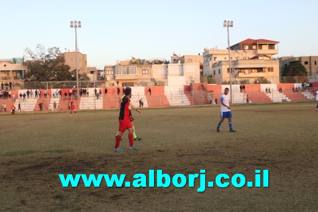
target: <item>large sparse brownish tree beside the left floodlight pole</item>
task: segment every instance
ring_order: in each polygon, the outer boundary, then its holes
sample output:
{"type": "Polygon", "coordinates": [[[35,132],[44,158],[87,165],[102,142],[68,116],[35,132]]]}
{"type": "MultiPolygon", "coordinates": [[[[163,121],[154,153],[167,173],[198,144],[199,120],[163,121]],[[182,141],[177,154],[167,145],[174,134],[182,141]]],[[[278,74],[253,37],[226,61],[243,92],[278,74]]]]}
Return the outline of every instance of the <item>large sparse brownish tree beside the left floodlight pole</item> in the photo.
{"type": "Polygon", "coordinates": [[[48,48],[43,45],[36,45],[36,50],[25,49],[30,60],[23,63],[28,69],[25,74],[30,81],[67,81],[76,80],[76,71],[70,71],[70,66],[65,65],[65,60],[59,57],[60,49],[57,47],[48,48]]]}

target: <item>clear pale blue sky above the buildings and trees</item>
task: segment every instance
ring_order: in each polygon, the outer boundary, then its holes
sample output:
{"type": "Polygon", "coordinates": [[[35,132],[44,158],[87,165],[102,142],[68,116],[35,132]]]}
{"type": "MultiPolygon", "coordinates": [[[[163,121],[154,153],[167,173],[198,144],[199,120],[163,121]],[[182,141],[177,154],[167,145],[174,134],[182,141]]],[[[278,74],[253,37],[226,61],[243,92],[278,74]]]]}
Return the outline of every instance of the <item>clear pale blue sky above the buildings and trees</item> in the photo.
{"type": "Polygon", "coordinates": [[[0,59],[26,55],[37,44],[79,52],[87,66],[116,60],[202,55],[226,49],[224,20],[233,20],[231,45],[247,38],[279,41],[282,56],[317,56],[316,0],[0,0],[0,59]]]}

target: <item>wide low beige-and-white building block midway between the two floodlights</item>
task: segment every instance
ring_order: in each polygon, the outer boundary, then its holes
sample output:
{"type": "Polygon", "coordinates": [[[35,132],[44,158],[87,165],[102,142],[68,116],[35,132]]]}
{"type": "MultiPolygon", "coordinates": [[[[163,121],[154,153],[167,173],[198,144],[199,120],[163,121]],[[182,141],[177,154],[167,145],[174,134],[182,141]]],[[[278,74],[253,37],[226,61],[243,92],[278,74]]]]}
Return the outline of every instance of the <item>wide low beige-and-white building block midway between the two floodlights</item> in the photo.
{"type": "MultiPolygon", "coordinates": [[[[173,57],[173,56],[172,56],[173,57]]],[[[171,57],[171,58],[172,58],[171,57]]],[[[201,56],[202,57],[202,56],[201,56]]],[[[189,84],[200,80],[200,63],[203,57],[187,57],[188,63],[154,64],[151,60],[132,59],[118,61],[115,66],[105,66],[106,86],[151,86],[169,84],[189,84]],[[180,78],[181,77],[181,78],[180,78]]],[[[202,68],[201,68],[202,69],[202,68]]]]}

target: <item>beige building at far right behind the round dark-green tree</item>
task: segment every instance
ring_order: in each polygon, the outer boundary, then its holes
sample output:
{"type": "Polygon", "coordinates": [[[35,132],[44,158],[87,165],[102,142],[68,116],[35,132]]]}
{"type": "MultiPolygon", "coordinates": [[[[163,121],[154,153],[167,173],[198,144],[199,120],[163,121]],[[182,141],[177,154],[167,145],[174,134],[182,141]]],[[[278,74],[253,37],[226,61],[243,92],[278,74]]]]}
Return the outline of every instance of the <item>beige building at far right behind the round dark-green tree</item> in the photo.
{"type": "Polygon", "coordinates": [[[318,56],[305,56],[305,57],[281,57],[279,60],[279,71],[283,71],[284,67],[291,63],[302,64],[307,72],[308,76],[314,76],[318,74],[318,56]]]}

